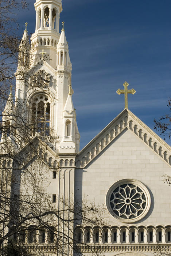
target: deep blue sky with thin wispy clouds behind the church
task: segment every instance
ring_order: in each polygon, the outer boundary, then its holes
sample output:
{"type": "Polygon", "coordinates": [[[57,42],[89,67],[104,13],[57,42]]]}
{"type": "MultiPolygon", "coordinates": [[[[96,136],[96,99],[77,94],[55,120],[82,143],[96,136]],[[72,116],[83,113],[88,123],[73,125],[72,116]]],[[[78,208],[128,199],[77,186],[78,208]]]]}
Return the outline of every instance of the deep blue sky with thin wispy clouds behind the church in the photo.
{"type": "MultiPolygon", "coordinates": [[[[170,0],[63,0],[73,64],[73,102],[81,148],[124,109],[125,80],[136,93],[128,108],[153,129],[171,97],[170,0]]],[[[18,15],[35,31],[34,1],[18,15]]],[[[61,24],[62,28],[62,24],[61,24]]],[[[60,29],[61,30],[61,29],[60,29]]],[[[170,140],[166,140],[170,143],[170,140]]]]}

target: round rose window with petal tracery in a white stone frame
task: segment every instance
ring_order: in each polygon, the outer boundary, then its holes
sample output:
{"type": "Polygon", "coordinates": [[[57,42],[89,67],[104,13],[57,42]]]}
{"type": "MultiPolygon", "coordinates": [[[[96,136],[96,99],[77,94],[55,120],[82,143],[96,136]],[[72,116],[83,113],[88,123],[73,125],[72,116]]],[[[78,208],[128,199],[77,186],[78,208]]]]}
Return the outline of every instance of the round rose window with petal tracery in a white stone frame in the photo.
{"type": "Polygon", "coordinates": [[[143,218],[150,207],[148,189],[139,181],[124,179],[113,184],[106,195],[106,206],[122,222],[143,218]]]}

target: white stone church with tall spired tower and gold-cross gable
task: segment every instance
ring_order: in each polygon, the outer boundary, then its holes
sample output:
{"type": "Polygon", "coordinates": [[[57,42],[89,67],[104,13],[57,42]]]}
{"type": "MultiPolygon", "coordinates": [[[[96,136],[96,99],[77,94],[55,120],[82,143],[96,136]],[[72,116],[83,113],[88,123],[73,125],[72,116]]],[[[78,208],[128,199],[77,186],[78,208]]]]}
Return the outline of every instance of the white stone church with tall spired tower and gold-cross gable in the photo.
{"type": "MultiPolygon", "coordinates": [[[[80,255],[93,255],[94,250],[105,256],[145,256],[153,255],[158,246],[171,252],[171,195],[163,182],[163,176],[171,172],[171,147],[125,105],[125,109],[79,151],[80,135],[72,100],[72,65],[64,24],[59,33],[62,0],[36,0],[35,10],[36,29],[31,45],[26,26],[20,45],[23,55],[19,56],[19,62],[22,59],[27,65],[30,61],[29,83],[17,76],[15,98],[26,110],[28,124],[39,120],[39,128],[44,131],[48,151],[45,158],[52,166],[48,193],[58,210],[60,198],[69,205],[70,201],[87,195],[88,204],[95,202],[105,207],[106,225],[79,223],[73,227],[74,246],[80,255]],[[30,51],[31,60],[24,55],[25,50],[30,51]],[[58,139],[48,141],[50,134],[56,134],[58,139]]],[[[135,91],[125,89],[124,93],[127,104],[127,93],[135,91]]],[[[10,116],[15,104],[7,102],[3,120],[10,116]]],[[[2,136],[1,143],[8,140],[7,137],[2,136]]],[[[69,225],[68,229],[62,228],[63,232],[70,232],[69,225]]],[[[35,241],[47,255],[58,255],[51,251],[45,239],[38,241],[35,237],[35,241]]],[[[32,241],[25,243],[33,246],[32,241]]],[[[73,254],[77,254],[74,249],[73,254]]]]}

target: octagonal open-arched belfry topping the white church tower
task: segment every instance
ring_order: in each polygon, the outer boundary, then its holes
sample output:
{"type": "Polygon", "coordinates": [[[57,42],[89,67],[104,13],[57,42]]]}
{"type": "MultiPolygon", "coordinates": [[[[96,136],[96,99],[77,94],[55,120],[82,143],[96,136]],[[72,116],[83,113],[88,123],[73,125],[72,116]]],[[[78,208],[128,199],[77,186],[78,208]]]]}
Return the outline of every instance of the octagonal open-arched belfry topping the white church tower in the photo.
{"type": "Polygon", "coordinates": [[[60,38],[59,18],[62,12],[62,0],[36,0],[34,6],[36,27],[31,37],[31,52],[35,55],[44,49],[48,56],[46,61],[55,69],[56,48],[60,38]]]}

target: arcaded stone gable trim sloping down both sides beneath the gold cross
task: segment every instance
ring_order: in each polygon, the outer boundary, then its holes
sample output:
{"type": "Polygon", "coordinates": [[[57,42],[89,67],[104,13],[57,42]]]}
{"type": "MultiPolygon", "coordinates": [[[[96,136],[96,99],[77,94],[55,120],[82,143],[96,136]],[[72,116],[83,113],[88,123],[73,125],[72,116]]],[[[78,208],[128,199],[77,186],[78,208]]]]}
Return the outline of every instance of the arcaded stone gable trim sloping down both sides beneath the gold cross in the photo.
{"type": "Polygon", "coordinates": [[[145,144],[147,144],[166,163],[171,165],[171,147],[155,132],[137,118],[130,110],[124,109],[109,123],[93,140],[91,140],[77,155],[77,168],[84,168],[97,157],[114,139],[130,129],[145,144]]]}

